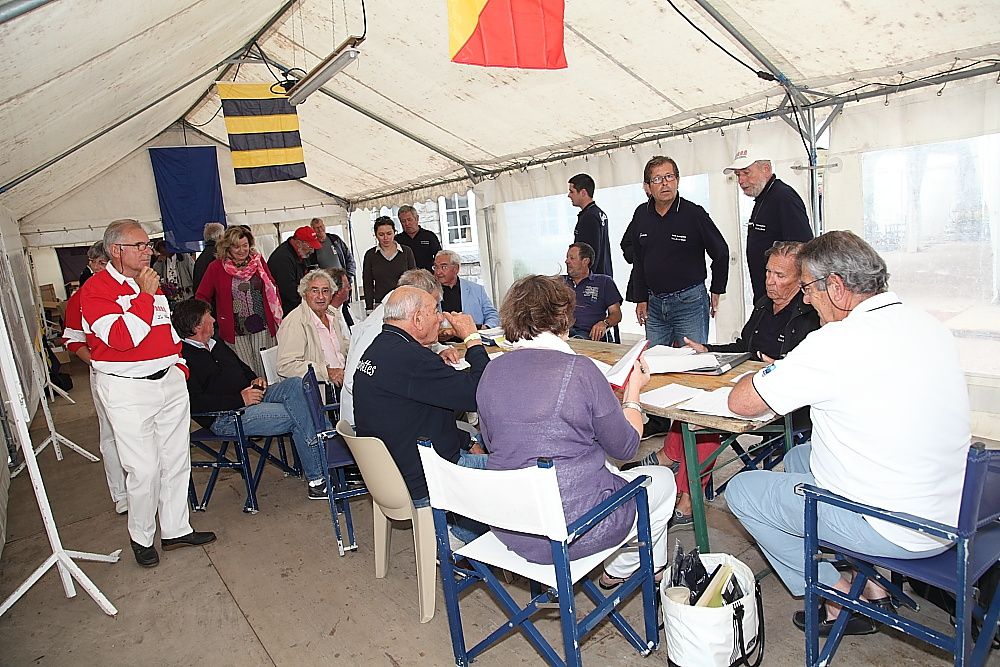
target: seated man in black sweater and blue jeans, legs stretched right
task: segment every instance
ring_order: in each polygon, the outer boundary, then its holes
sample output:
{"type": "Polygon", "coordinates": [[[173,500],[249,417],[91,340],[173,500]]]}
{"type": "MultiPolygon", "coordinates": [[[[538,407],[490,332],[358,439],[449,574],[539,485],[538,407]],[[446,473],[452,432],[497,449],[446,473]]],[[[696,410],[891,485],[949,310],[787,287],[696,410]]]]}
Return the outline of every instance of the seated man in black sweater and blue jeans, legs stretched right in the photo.
{"type": "MultiPolygon", "coordinates": [[[[188,299],[174,306],[171,322],[183,337],[181,354],[191,372],[188,394],[191,412],[243,411],[243,431],[249,436],[292,434],[295,451],[309,480],[307,497],[326,500],[326,484],[312,416],[302,391],[301,378],[288,378],[270,387],[256,377],[226,344],[212,338],[215,318],[209,305],[188,299]]],[[[236,417],[195,417],[194,420],[216,435],[236,435],[236,417]]]]}

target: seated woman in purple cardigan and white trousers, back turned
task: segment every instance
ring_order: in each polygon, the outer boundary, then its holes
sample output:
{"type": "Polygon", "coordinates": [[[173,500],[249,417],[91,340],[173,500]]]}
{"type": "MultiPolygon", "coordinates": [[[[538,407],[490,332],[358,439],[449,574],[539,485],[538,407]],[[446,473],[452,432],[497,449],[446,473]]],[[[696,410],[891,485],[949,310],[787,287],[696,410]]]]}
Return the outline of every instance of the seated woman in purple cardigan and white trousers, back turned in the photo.
{"type": "MultiPolygon", "coordinates": [[[[594,363],[566,343],[576,295],[559,278],[528,276],[510,288],[500,322],[515,350],[486,367],[476,402],[490,451],[487,469],[515,470],[553,460],[566,521],[575,521],[639,475],[652,478],[649,515],[653,565],[667,562],[667,523],[673,516],[676,486],[668,468],[641,466],[621,472],[607,461],[633,458],[639,449],[642,411],[639,392],[649,382],[636,362],[619,403],[594,363]]],[[[551,563],[542,537],[493,529],[509,549],[535,563],[551,563]]],[[[569,553],[582,558],[635,538],[635,501],[620,507],[580,538],[569,553]]],[[[637,550],[625,550],[605,565],[602,588],[619,585],[639,567],[637,550]]]]}

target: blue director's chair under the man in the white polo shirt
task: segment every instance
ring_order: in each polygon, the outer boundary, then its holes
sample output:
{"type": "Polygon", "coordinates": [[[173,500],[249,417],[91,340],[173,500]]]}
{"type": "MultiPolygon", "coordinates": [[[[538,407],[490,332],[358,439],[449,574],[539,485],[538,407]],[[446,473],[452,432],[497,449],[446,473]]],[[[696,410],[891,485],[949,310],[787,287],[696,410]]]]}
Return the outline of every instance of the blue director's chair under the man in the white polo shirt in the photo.
{"type": "Polygon", "coordinates": [[[965,468],[965,485],[962,489],[961,509],[958,526],[946,526],[935,521],[896,512],[887,512],[868,505],[856,503],[825,489],[803,484],[805,495],[805,556],[806,556],[806,664],[810,667],[829,664],[843,637],[850,613],[859,613],[875,621],[933,644],[955,656],[955,665],[982,665],[997,630],[1000,618],[1000,595],[993,595],[989,609],[983,609],[977,602],[984,591],[976,591],[975,584],[998,559],[1000,559],[1000,451],[987,450],[982,443],[969,449],[965,468]],[[944,553],[930,558],[898,559],[882,558],[857,553],[839,544],[830,544],[818,539],[817,507],[826,503],[835,507],[858,512],[899,526],[919,530],[952,540],[955,546],[944,553]],[[820,549],[832,551],[834,558],[844,560],[858,572],[851,592],[841,593],[819,582],[818,560],[824,556],[820,549]],[[876,567],[891,571],[910,579],[926,582],[955,595],[954,635],[945,634],[903,616],[888,613],[861,598],[865,582],[871,579],[889,591],[902,605],[913,610],[917,603],[902,589],[875,570],[876,567]],[[819,647],[819,601],[832,600],[844,606],[837,616],[823,646],[819,647]],[[979,639],[972,641],[972,617],[982,622],[979,639]]]}

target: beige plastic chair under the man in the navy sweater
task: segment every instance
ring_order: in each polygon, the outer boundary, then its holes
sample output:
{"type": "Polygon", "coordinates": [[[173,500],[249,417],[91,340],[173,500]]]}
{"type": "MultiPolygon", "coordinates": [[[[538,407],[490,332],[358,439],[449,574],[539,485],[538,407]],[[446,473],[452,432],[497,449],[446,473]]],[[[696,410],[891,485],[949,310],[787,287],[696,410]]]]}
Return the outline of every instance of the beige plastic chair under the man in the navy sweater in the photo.
{"type": "Polygon", "coordinates": [[[413,522],[413,552],[417,560],[417,591],[420,622],[434,618],[436,566],[434,562],[434,517],[430,507],[415,508],[410,499],[403,476],[378,438],[359,437],[354,429],[341,419],[337,433],[347,442],[354,461],[365,478],[365,486],[372,497],[372,516],[375,521],[375,577],[384,579],[389,562],[389,542],[392,523],[413,522]]]}

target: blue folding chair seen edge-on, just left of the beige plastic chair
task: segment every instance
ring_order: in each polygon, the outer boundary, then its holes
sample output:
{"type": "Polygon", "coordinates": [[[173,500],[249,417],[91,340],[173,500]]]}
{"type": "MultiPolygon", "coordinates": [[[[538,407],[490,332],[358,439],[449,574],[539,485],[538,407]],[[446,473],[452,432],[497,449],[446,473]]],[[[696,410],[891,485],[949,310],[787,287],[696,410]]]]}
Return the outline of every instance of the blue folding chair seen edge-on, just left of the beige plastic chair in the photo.
{"type": "Polygon", "coordinates": [[[354,540],[354,521],[351,518],[351,506],[348,500],[356,496],[366,495],[368,489],[364,485],[350,488],[347,484],[344,468],[354,465],[354,457],[351,456],[347,443],[327,420],[325,413],[336,411],[339,406],[323,404],[323,400],[320,398],[319,381],[316,379],[316,371],[312,364],[309,365],[309,370],[302,378],[302,389],[305,391],[309,414],[312,415],[313,426],[319,439],[320,462],[323,467],[323,479],[326,481],[326,496],[330,503],[330,519],[333,522],[333,532],[337,536],[337,549],[343,556],[345,551],[353,551],[358,548],[358,543],[354,540]],[[344,523],[347,528],[346,545],[340,532],[338,515],[341,512],[344,514],[344,523]]]}

